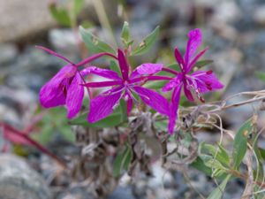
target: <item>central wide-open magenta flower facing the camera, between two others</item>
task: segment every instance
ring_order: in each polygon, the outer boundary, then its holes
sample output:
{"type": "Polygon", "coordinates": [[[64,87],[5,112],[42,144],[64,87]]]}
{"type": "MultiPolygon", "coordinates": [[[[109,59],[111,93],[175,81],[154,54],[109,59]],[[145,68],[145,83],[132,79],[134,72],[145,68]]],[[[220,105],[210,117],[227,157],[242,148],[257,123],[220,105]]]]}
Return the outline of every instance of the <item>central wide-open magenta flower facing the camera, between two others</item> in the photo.
{"type": "Polygon", "coordinates": [[[141,100],[155,111],[168,116],[168,101],[155,91],[141,87],[141,85],[148,80],[171,80],[171,78],[168,77],[153,76],[153,74],[162,70],[163,65],[143,64],[138,66],[133,73],[130,73],[130,66],[122,50],[117,50],[117,59],[122,77],[116,72],[97,68],[95,66],[85,69],[87,73],[94,73],[110,79],[102,82],[88,82],[85,84],[87,88],[112,87],[91,100],[90,111],[87,118],[88,122],[94,123],[110,115],[115,107],[117,107],[121,98],[125,99],[127,103],[127,114],[129,114],[133,108],[133,102],[138,103],[133,94],[140,96],[141,100]]]}

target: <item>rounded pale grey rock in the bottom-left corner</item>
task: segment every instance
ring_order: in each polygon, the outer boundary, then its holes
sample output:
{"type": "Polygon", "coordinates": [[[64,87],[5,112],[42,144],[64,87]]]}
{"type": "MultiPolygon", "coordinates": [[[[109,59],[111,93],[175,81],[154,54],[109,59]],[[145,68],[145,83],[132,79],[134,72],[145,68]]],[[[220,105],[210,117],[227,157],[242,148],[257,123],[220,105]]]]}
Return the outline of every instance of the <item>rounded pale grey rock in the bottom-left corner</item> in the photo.
{"type": "Polygon", "coordinates": [[[51,199],[42,177],[20,157],[0,155],[1,199],[51,199]]]}

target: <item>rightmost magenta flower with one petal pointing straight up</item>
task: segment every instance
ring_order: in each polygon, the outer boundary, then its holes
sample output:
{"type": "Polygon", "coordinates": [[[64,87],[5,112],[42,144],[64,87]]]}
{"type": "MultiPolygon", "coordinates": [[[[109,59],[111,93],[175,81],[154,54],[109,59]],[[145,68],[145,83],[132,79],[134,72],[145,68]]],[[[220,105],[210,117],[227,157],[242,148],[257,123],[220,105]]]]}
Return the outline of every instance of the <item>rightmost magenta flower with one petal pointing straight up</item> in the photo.
{"type": "Polygon", "coordinates": [[[175,57],[181,72],[168,71],[170,73],[174,73],[176,77],[173,80],[170,80],[170,82],[163,87],[163,91],[170,91],[173,89],[169,115],[170,134],[173,133],[176,119],[178,118],[178,104],[182,88],[184,88],[185,96],[189,101],[194,101],[192,93],[195,93],[201,102],[204,102],[204,99],[201,97],[201,93],[207,93],[208,91],[223,88],[223,84],[217,79],[216,75],[212,71],[198,71],[189,74],[193,65],[195,65],[197,60],[208,49],[202,50],[194,56],[196,50],[198,50],[202,42],[202,34],[199,28],[190,31],[188,33],[188,37],[189,40],[186,45],[186,53],[184,57],[181,56],[178,48],[175,49],[175,57]]]}

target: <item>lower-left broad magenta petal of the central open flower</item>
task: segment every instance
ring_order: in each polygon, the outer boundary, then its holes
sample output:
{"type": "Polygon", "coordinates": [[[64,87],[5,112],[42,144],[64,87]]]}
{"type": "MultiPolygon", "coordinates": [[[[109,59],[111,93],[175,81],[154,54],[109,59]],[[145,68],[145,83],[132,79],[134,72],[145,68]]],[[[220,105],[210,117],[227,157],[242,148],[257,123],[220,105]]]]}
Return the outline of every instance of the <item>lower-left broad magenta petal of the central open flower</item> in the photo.
{"type": "Polygon", "coordinates": [[[122,87],[112,88],[92,99],[87,118],[88,122],[94,123],[110,115],[110,113],[116,108],[117,103],[122,96],[122,91],[122,87]]]}

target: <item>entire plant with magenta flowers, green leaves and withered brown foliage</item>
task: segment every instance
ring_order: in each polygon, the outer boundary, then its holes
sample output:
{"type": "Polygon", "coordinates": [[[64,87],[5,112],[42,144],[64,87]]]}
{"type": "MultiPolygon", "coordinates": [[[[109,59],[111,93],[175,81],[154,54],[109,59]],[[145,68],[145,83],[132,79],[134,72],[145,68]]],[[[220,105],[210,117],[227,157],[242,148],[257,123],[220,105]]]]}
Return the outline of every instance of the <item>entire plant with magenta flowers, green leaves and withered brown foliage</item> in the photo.
{"type": "Polygon", "coordinates": [[[151,165],[160,161],[170,171],[184,172],[191,166],[215,179],[217,188],[208,195],[209,199],[221,198],[226,184],[234,178],[245,182],[242,197],[264,196],[265,150],[257,144],[263,131],[257,126],[259,108],[235,134],[223,128],[218,112],[246,103],[262,103],[265,92],[245,92],[222,102],[207,103],[202,95],[223,88],[223,84],[212,70],[193,71],[211,63],[200,60],[208,48],[196,53],[202,43],[201,29],[188,32],[183,56],[178,48],[172,50],[176,59],[173,66],[155,62],[137,67],[131,64],[133,57],[143,55],[153,46],[159,27],[134,45],[125,22],[121,33],[123,46],[116,50],[83,27],[79,33],[88,51],[95,54],[78,64],[38,47],[67,63],[42,87],[40,102],[44,108],[66,107],[69,124],[75,126],[76,142],[82,148],[76,166],[72,166],[73,173],[79,180],[90,181],[87,187],[90,193],[98,198],[109,195],[125,172],[136,179],[140,172],[155,175],[151,165]],[[91,63],[95,59],[106,64],[95,66],[91,63]],[[94,79],[87,78],[90,76],[94,79]],[[153,82],[159,82],[159,86],[153,82]],[[188,101],[199,104],[180,106],[182,90],[188,101]],[[83,102],[85,92],[88,103],[83,102]],[[239,95],[253,98],[228,103],[239,95]],[[220,130],[218,144],[198,142],[194,133],[200,134],[202,128],[220,130]],[[231,151],[223,146],[225,134],[231,139],[231,151]],[[174,149],[169,148],[172,143],[174,149]]]}

